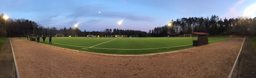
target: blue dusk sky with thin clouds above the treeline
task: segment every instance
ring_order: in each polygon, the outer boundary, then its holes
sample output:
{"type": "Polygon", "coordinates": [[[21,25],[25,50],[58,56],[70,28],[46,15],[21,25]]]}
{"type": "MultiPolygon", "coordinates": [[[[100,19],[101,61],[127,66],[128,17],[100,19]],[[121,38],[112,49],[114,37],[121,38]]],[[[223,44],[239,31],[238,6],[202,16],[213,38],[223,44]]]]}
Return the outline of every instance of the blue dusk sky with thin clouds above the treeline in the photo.
{"type": "Polygon", "coordinates": [[[149,31],[183,17],[256,17],[256,0],[0,0],[0,13],[44,27],[149,31]],[[251,8],[250,8],[251,7],[251,8]],[[100,11],[100,13],[99,13],[100,11]]]}

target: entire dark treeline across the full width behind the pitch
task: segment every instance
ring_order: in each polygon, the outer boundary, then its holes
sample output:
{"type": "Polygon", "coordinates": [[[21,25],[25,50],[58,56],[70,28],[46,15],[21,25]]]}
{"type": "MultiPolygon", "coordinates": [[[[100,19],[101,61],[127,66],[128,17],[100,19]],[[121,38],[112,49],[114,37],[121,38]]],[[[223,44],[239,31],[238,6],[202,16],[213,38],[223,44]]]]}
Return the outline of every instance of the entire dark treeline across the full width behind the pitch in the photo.
{"type": "MultiPolygon", "coordinates": [[[[230,19],[220,19],[216,15],[212,15],[211,18],[203,17],[189,17],[181,18],[175,21],[172,20],[172,24],[168,26],[159,26],[154,29],[146,31],[139,30],[119,30],[119,29],[104,29],[102,31],[81,31],[79,28],[60,28],[59,30],[55,27],[44,27],[38,22],[26,19],[11,19],[5,21],[3,18],[4,14],[0,15],[0,37],[20,37],[26,36],[31,33],[37,35],[55,35],[64,34],[64,36],[87,36],[87,35],[99,35],[99,36],[110,36],[110,35],[138,35],[139,37],[163,37],[172,36],[173,33],[177,35],[191,34],[192,32],[204,32],[210,35],[244,35],[246,30],[249,28],[251,31],[256,30],[256,17],[238,17],[230,19]],[[6,24],[6,25],[5,25],[6,24]],[[6,29],[5,29],[6,26],[6,29]],[[6,31],[5,31],[6,30],[6,31]]],[[[254,32],[255,33],[255,32],[254,32]]]]}

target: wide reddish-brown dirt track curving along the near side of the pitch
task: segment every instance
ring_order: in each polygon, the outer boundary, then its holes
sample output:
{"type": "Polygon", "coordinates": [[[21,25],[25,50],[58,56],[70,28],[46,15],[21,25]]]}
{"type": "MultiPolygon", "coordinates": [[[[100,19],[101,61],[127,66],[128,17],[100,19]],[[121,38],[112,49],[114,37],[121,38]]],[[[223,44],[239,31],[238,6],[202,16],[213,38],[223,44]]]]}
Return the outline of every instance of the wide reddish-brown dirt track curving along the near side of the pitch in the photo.
{"type": "Polygon", "coordinates": [[[21,78],[227,78],[243,39],[152,56],[104,56],[11,40],[21,78]]]}

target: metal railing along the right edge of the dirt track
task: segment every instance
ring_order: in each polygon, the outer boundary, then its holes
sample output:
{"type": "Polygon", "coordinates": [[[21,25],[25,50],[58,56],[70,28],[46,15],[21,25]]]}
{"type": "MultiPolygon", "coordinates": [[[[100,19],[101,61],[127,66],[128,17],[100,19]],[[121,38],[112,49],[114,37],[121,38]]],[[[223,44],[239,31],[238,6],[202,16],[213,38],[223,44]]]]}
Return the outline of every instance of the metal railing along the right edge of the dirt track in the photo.
{"type": "MultiPolygon", "coordinates": [[[[246,36],[244,38],[244,41],[245,41],[245,39],[246,39],[246,36]]],[[[232,78],[232,76],[237,78],[238,75],[239,75],[239,68],[240,68],[240,64],[241,64],[241,58],[243,56],[243,51],[244,51],[244,41],[243,41],[241,49],[240,49],[240,51],[238,53],[238,56],[236,57],[236,61],[235,61],[234,65],[233,65],[233,67],[232,67],[232,69],[230,71],[230,74],[229,74],[228,78],[232,78]],[[236,72],[234,72],[235,68],[236,68],[236,72]],[[234,73],[236,73],[236,75],[233,75],[234,73]]]]}

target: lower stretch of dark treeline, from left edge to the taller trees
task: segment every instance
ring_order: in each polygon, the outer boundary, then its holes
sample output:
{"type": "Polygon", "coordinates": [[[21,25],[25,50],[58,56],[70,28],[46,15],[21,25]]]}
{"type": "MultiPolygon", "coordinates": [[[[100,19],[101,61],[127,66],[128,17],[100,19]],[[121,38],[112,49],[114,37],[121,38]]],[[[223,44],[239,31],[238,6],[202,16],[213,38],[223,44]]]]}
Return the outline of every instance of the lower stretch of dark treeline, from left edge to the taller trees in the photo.
{"type": "Polygon", "coordinates": [[[110,36],[110,35],[138,35],[140,37],[147,36],[147,32],[139,31],[139,30],[119,30],[119,29],[104,29],[103,31],[81,31],[79,28],[60,28],[59,30],[55,27],[44,27],[40,25],[38,22],[26,19],[11,19],[5,21],[3,18],[4,14],[0,15],[0,37],[5,36],[5,32],[7,33],[7,37],[20,37],[26,36],[32,33],[37,35],[55,35],[55,34],[64,34],[64,36],[87,36],[87,35],[99,35],[99,36],[110,36]],[[6,31],[5,31],[6,26],[6,31]]]}

